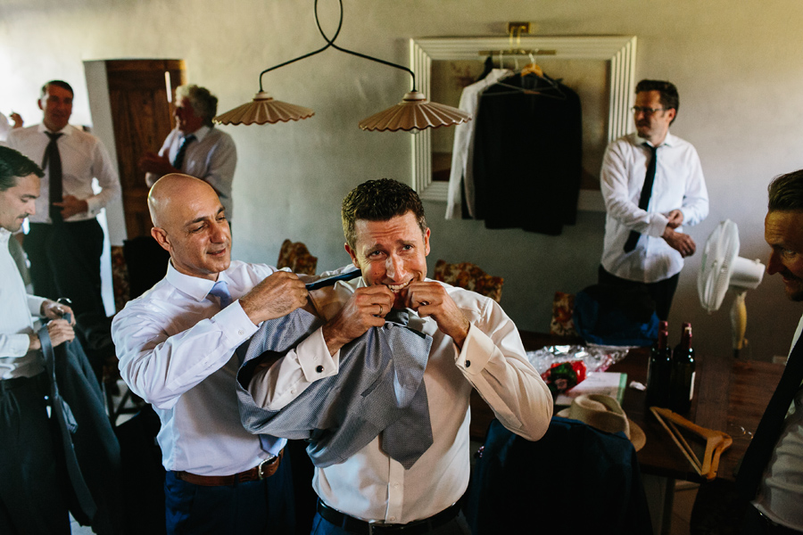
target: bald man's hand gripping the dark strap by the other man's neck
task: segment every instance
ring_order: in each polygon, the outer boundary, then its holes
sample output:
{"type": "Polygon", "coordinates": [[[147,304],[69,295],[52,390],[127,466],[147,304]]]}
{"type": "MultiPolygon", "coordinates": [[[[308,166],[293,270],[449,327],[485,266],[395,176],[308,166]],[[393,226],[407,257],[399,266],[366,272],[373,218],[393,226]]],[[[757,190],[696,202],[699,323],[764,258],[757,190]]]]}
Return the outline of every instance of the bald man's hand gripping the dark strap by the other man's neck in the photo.
{"type": "Polygon", "coordinates": [[[266,277],[240,298],[240,306],[253,325],[286,316],[306,302],[306,286],[297,275],[288,271],[277,271],[266,277]]]}

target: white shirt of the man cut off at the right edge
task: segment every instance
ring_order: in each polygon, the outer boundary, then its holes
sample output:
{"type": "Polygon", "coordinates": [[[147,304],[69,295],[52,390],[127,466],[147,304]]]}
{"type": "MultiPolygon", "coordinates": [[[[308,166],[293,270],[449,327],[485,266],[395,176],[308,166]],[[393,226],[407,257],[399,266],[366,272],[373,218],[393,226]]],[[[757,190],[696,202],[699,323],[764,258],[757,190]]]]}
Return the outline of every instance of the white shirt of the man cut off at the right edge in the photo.
{"type": "MultiPolygon", "coordinates": [[[[803,317],[792,341],[792,349],[803,331],[803,317]]],[[[791,350],[790,350],[791,353],[791,350]]],[[[795,394],[773,457],[758,485],[757,509],[774,523],[803,531],[803,388],[795,394]]]]}

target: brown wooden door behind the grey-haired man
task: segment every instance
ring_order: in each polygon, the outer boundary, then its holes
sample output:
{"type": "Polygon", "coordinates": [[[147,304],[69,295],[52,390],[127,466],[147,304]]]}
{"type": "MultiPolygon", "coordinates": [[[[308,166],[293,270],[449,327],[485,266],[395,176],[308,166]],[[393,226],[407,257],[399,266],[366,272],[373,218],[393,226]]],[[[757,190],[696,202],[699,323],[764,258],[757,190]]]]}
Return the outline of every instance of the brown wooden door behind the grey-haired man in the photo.
{"type": "Polygon", "coordinates": [[[185,65],[183,60],[110,60],[105,65],[126,232],[132,239],[150,235],[152,226],[145,173],[137,162],[145,152],[158,152],[173,128],[173,95],[186,83],[185,65]]]}

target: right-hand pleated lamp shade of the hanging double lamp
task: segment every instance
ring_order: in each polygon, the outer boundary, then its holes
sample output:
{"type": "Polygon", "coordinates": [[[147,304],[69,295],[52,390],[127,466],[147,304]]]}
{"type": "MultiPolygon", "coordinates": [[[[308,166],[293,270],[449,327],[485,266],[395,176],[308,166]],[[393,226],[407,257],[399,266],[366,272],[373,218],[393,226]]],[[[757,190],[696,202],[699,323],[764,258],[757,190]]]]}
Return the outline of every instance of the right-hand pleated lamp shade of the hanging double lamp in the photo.
{"type": "Polygon", "coordinates": [[[363,130],[396,132],[451,127],[471,119],[466,111],[445,104],[431,103],[418,91],[404,95],[401,103],[360,121],[363,130]]]}

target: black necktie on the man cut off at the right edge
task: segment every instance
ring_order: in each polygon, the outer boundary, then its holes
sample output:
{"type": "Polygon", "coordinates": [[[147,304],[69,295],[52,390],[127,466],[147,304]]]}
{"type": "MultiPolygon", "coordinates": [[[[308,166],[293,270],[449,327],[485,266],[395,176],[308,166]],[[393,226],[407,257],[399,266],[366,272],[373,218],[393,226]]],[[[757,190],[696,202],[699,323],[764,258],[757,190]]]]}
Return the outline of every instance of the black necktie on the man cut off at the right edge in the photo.
{"type": "Polygon", "coordinates": [[[756,496],[758,483],[773,455],[775,443],[783,430],[786,413],[800,388],[801,381],[803,381],[803,337],[795,344],[786,361],[781,381],[767,404],[764,416],[761,416],[753,440],[750,440],[748,450],[741,461],[739,474],[736,476],[736,486],[744,498],[753,499],[756,496]]]}

